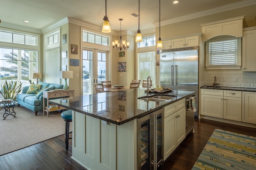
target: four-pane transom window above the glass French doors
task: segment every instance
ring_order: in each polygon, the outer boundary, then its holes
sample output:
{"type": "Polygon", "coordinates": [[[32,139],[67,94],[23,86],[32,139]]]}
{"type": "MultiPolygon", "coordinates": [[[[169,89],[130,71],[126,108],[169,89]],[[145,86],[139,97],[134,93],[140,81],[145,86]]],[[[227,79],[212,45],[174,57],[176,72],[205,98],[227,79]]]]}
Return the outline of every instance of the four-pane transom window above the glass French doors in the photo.
{"type": "Polygon", "coordinates": [[[88,43],[109,46],[109,37],[88,31],[83,31],[83,41],[88,43]]]}

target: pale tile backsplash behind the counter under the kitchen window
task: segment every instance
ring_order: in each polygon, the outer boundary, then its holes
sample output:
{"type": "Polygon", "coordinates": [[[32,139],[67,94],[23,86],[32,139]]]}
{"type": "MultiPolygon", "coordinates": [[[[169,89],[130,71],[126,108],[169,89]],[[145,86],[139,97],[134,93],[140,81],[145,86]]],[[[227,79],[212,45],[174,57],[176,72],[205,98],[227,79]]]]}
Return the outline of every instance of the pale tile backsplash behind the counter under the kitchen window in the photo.
{"type": "Polygon", "coordinates": [[[212,85],[214,76],[216,76],[219,86],[256,88],[256,72],[220,70],[205,71],[204,82],[200,82],[200,86],[212,85]]]}

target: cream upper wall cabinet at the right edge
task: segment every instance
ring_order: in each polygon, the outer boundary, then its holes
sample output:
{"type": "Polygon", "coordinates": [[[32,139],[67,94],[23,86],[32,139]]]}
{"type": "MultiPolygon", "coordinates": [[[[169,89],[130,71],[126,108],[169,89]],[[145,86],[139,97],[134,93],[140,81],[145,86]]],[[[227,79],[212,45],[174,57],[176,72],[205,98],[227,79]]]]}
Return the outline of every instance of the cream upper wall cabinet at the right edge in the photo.
{"type": "Polygon", "coordinates": [[[242,49],[243,71],[256,71],[256,27],[244,29],[242,49]]]}

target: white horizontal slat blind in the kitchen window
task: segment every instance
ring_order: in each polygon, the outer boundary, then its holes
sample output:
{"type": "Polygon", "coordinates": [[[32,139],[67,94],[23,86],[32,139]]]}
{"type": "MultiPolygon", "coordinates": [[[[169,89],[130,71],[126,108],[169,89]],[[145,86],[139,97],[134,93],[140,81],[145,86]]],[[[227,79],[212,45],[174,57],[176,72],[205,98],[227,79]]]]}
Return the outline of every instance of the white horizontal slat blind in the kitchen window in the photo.
{"type": "Polygon", "coordinates": [[[209,43],[209,65],[236,65],[237,39],[209,43]]]}

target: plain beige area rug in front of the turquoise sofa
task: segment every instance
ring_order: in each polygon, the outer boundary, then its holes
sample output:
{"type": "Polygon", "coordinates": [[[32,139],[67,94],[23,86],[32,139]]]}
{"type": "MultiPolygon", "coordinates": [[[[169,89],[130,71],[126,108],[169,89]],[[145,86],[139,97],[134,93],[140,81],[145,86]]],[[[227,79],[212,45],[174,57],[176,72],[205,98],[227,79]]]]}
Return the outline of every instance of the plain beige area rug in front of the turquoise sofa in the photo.
{"type": "Polygon", "coordinates": [[[9,115],[5,120],[4,111],[0,111],[0,155],[65,134],[65,121],[59,111],[50,112],[49,117],[42,111],[35,116],[22,106],[14,107],[14,111],[16,117],[9,115]]]}

